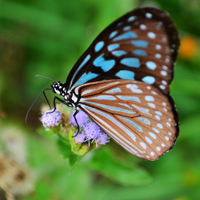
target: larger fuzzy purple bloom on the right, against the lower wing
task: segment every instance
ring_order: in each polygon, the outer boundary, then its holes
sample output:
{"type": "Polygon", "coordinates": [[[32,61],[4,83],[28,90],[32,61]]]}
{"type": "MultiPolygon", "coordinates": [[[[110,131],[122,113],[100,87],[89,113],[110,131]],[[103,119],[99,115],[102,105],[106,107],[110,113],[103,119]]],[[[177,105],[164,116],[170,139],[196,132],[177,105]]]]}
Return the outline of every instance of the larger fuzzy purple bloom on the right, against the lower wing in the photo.
{"type": "Polygon", "coordinates": [[[107,142],[109,142],[109,136],[101,130],[101,128],[94,123],[88,115],[86,115],[83,111],[79,111],[75,118],[78,122],[76,123],[76,120],[74,118],[75,111],[71,115],[71,121],[75,126],[79,126],[79,133],[75,133],[74,140],[76,143],[83,143],[88,142],[88,145],[90,146],[90,143],[95,142],[96,147],[99,145],[105,145],[107,142]]]}

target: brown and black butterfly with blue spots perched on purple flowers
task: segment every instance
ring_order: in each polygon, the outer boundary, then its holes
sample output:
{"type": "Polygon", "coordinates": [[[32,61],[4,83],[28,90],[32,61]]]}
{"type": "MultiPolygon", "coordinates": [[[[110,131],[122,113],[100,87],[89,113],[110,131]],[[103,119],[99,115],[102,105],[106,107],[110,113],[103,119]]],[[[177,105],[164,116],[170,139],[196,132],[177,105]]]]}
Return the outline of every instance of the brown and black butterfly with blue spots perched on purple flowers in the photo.
{"type": "Polygon", "coordinates": [[[76,62],[55,100],[84,111],[134,156],[156,160],[179,134],[169,85],[178,54],[178,31],[168,14],[138,8],[109,25],[76,62]]]}

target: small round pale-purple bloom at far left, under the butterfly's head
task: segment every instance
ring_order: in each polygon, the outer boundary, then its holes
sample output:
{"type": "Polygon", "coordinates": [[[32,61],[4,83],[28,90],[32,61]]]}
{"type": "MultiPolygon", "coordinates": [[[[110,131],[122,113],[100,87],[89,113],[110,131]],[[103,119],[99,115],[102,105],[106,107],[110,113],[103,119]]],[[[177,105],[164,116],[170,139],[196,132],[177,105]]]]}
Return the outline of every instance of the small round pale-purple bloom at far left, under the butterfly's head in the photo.
{"type": "Polygon", "coordinates": [[[61,114],[57,110],[55,110],[54,112],[52,112],[52,111],[53,111],[53,109],[48,110],[40,118],[40,121],[42,122],[42,124],[45,128],[56,127],[62,121],[61,114]]]}

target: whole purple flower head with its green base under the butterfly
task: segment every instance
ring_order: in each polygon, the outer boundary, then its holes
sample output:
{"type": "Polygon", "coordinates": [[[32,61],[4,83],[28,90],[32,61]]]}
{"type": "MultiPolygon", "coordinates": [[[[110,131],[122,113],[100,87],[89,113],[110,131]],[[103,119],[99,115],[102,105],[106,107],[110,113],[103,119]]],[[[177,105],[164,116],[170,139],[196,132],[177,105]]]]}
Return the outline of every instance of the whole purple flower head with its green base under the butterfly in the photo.
{"type": "Polygon", "coordinates": [[[63,145],[66,151],[71,149],[73,156],[83,156],[110,142],[110,137],[85,112],[73,111],[64,104],[58,104],[56,108],[54,112],[45,112],[40,120],[46,131],[58,136],[56,138],[64,156],[63,145]]]}

